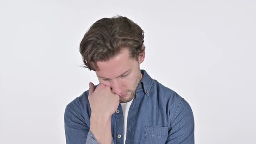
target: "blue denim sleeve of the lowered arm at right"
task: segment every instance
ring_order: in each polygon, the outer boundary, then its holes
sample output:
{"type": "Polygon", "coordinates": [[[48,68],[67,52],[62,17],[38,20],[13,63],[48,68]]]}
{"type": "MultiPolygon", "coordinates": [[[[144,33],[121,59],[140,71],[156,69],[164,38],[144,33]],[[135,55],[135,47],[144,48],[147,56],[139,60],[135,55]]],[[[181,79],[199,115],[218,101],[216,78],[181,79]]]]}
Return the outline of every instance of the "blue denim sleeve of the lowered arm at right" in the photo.
{"type": "Polygon", "coordinates": [[[166,144],[194,144],[194,116],[190,105],[184,99],[171,120],[166,144]]]}

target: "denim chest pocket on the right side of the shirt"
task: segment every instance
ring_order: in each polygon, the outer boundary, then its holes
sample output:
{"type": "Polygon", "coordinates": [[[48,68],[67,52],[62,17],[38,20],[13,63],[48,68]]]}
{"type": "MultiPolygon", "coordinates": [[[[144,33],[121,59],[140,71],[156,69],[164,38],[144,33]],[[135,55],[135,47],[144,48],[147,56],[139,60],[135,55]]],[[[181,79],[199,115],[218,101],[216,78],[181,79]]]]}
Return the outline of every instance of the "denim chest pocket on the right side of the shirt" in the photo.
{"type": "Polygon", "coordinates": [[[146,125],[142,144],[165,144],[168,137],[168,127],[146,125]]]}

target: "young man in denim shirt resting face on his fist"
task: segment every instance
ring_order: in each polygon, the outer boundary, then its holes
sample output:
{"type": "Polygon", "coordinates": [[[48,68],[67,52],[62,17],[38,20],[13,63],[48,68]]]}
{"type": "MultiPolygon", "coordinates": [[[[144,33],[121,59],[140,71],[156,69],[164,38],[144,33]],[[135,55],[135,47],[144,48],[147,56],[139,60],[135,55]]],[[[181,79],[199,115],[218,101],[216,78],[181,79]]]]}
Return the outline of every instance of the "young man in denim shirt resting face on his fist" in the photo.
{"type": "Polygon", "coordinates": [[[118,16],[95,22],[80,53],[99,84],[69,103],[67,144],[194,144],[192,110],[176,92],[152,79],[140,64],[144,31],[118,16]]]}

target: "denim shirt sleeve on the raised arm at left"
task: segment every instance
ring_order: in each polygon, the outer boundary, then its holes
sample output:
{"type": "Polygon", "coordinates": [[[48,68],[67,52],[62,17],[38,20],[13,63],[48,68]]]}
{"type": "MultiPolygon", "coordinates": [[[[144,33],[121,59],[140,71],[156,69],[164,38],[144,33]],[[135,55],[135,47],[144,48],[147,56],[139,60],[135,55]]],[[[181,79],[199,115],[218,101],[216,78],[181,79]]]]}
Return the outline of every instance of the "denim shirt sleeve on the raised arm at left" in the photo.
{"type": "MultiPolygon", "coordinates": [[[[70,105],[66,106],[64,114],[66,144],[98,144],[95,136],[82,119],[70,105]]],[[[113,137],[112,137],[112,144],[113,137]]]]}

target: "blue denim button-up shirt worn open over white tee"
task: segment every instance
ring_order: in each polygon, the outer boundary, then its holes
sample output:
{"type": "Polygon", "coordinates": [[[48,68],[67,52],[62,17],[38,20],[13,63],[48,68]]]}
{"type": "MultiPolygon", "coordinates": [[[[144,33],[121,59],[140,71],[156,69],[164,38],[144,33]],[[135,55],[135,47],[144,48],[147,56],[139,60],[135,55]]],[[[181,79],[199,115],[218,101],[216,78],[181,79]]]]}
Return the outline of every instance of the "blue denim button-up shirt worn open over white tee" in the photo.
{"type": "MultiPolygon", "coordinates": [[[[141,73],[143,77],[128,112],[125,143],[194,144],[194,116],[190,105],[170,88],[151,79],[145,70],[141,73]]],[[[118,110],[119,113],[111,117],[112,144],[123,144],[121,104],[118,110]]],[[[88,91],[66,106],[67,144],[98,144],[90,131],[90,115],[88,91]]]]}

